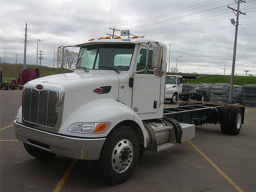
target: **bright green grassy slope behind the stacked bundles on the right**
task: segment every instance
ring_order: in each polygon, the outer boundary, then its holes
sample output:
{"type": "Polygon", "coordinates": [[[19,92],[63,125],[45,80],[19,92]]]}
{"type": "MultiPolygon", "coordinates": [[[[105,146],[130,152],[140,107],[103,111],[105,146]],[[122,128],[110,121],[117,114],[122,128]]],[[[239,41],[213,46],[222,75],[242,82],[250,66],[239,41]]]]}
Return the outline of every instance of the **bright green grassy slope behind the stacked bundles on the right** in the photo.
{"type": "MultiPolygon", "coordinates": [[[[230,83],[230,75],[213,75],[208,77],[202,77],[190,81],[189,83],[200,84],[200,83],[230,83]]],[[[234,76],[235,85],[243,85],[245,76],[234,76]]],[[[246,84],[256,84],[256,77],[246,77],[246,84]]]]}

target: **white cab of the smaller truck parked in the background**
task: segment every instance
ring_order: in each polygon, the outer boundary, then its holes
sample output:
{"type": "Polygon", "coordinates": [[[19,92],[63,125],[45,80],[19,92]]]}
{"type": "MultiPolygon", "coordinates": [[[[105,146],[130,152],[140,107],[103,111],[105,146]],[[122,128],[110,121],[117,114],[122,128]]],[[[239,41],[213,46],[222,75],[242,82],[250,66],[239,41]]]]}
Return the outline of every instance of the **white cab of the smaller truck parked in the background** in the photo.
{"type": "Polygon", "coordinates": [[[180,93],[182,93],[182,76],[166,75],[165,100],[176,104],[180,93]]]}

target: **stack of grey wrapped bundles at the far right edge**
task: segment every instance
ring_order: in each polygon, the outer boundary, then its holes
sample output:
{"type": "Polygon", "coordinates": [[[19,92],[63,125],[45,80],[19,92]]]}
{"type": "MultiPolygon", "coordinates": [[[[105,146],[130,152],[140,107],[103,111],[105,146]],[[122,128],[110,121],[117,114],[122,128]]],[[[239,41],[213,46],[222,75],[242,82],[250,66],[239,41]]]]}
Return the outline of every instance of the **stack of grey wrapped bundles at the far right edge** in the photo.
{"type": "Polygon", "coordinates": [[[243,100],[242,103],[246,106],[256,106],[256,84],[243,85],[243,100]]]}

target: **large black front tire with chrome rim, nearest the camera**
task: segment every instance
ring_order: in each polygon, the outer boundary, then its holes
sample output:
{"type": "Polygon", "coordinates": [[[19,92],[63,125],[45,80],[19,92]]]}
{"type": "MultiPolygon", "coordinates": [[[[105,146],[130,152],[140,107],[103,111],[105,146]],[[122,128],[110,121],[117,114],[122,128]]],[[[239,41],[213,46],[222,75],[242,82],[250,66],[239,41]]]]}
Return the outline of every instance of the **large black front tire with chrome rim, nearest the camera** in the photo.
{"type": "Polygon", "coordinates": [[[94,162],[94,170],[108,184],[120,184],[132,175],[139,153],[140,145],[136,132],[121,125],[106,139],[100,159],[94,162]]]}

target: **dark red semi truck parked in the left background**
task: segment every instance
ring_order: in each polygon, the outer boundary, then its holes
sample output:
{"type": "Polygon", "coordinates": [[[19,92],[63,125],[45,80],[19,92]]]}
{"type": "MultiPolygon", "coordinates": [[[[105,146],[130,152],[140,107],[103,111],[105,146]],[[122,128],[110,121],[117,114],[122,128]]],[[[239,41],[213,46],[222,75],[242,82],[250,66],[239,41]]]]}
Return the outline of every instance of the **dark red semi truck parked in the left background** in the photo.
{"type": "Polygon", "coordinates": [[[22,70],[15,79],[11,80],[11,83],[1,83],[1,89],[3,90],[14,90],[16,88],[22,89],[24,84],[39,78],[39,69],[38,68],[26,68],[22,70]]]}

